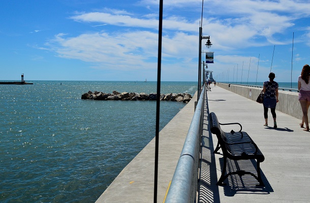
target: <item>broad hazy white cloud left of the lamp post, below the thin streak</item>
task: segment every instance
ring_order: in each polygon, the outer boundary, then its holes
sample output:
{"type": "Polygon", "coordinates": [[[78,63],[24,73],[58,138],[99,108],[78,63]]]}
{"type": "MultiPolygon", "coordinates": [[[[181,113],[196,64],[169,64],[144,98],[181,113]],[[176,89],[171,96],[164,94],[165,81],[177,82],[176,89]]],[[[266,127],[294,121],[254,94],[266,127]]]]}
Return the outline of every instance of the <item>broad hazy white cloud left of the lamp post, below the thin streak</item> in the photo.
{"type": "MultiPolygon", "coordinates": [[[[109,35],[106,32],[88,33],[78,37],[67,37],[64,33],[46,45],[59,57],[96,62],[103,69],[145,69],[146,61],[158,56],[158,35],[149,31],[133,31],[109,35]]],[[[191,60],[197,55],[196,36],[177,33],[171,39],[163,37],[164,60],[191,60]],[[194,48],[195,47],[195,48],[194,48]],[[187,51],[184,51],[187,50],[187,51]],[[169,59],[170,58],[170,59],[169,59]]]]}

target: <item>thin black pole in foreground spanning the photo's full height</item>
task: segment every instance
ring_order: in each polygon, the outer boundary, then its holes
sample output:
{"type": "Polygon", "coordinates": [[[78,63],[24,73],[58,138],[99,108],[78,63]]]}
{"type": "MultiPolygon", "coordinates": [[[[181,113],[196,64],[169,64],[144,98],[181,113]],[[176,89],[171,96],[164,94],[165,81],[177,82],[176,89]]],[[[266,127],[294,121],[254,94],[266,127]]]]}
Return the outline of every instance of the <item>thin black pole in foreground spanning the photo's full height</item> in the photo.
{"type": "Polygon", "coordinates": [[[159,7],[159,31],[158,31],[158,62],[157,62],[158,65],[157,65],[157,99],[156,99],[154,203],[157,203],[158,152],[159,152],[159,119],[160,119],[160,100],[161,100],[162,35],[163,35],[163,0],[160,0],[160,7],[159,7]]]}

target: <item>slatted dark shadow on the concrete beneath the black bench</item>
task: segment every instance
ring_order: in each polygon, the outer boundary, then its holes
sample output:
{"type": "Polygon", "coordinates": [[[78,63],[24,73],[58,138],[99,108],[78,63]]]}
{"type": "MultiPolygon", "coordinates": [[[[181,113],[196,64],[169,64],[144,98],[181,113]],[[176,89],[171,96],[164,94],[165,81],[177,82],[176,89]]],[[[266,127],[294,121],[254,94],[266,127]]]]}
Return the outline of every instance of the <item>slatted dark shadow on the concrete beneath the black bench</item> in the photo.
{"type": "MultiPolygon", "coordinates": [[[[223,170],[224,158],[219,158],[221,165],[221,172],[223,170]]],[[[263,162],[262,162],[263,164],[263,162]]],[[[244,170],[247,172],[251,172],[257,176],[257,167],[255,160],[230,160],[227,159],[227,173],[244,170]]],[[[270,183],[268,182],[265,174],[262,170],[260,170],[261,177],[264,187],[257,186],[259,182],[251,175],[230,175],[224,181],[227,185],[223,186],[225,196],[234,196],[237,193],[255,193],[255,194],[270,194],[270,192],[274,192],[270,183]]]]}

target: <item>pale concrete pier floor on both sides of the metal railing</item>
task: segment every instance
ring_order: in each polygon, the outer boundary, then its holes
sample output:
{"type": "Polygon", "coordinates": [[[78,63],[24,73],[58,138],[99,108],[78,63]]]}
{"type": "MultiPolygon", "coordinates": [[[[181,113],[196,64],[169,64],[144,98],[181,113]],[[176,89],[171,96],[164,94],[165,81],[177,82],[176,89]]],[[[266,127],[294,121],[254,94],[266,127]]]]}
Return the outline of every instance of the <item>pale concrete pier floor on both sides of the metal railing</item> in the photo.
{"type": "MultiPolygon", "coordinates": [[[[276,110],[277,128],[274,129],[269,110],[269,126],[265,127],[263,106],[252,99],[212,85],[206,98],[198,202],[309,202],[310,132],[300,128],[300,119],[276,110]],[[258,182],[251,176],[230,176],[224,181],[226,186],[216,186],[223,156],[212,153],[218,140],[209,131],[210,112],[214,112],[221,123],[240,123],[242,131],[249,133],[258,145],[265,156],[260,165],[265,187],[257,187],[258,182]]],[[[173,177],[196,100],[195,94],[160,132],[158,202],[163,202],[173,177]]],[[[300,106],[299,103],[293,105],[300,106]]],[[[238,126],[222,127],[225,131],[239,130],[238,126]]],[[[253,170],[251,162],[245,164],[253,170]]],[[[153,202],[153,179],[154,140],[123,169],[96,202],[153,202]]]]}

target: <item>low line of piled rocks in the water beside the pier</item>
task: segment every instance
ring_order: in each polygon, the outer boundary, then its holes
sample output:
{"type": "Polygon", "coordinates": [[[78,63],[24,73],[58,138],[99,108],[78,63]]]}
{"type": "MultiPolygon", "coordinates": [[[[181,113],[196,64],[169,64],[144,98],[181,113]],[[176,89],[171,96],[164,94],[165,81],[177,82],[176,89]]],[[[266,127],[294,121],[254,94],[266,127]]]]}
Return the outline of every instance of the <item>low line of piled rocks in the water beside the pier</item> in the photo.
{"type": "MultiPolygon", "coordinates": [[[[188,93],[169,93],[161,94],[161,100],[166,101],[179,101],[183,103],[188,103],[192,99],[192,95],[188,93]]],[[[94,100],[156,100],[157,93],[146,94],[144,92],[117,92],[104,93],[99,91],[88,91],[82,94],[81,99],[94,99],[94,100]]]]}

